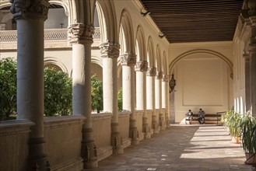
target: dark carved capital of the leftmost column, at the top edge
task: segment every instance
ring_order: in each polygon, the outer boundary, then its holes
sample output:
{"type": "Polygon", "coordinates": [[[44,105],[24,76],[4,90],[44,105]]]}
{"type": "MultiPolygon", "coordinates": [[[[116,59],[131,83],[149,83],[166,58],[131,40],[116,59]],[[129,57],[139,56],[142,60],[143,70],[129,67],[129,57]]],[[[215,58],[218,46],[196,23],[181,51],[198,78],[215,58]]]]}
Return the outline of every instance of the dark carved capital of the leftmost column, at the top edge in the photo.
{"type": "Polygon", "coordinates": [[[49,0],[9,0],[10,11],[15,19],[47,19],[49,0]]]}

